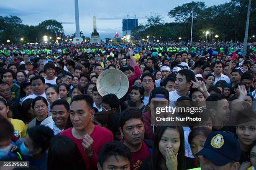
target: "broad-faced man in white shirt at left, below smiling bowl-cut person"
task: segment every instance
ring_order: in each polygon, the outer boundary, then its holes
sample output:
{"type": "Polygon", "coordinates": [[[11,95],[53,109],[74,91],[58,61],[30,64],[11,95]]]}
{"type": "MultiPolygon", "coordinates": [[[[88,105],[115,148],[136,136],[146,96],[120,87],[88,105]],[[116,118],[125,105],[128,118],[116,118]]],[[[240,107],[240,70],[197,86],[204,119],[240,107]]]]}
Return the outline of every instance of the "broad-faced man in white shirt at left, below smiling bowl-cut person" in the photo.
{"type": "Polygon", "coordinates": [[[38,96],[42,96],[46,99],[44,77],[34,76],[30,79],[30,81],[31,81],[33,94],[28,95],[23,101],[25,101],[26,99],[34,99],[38,96]]]}

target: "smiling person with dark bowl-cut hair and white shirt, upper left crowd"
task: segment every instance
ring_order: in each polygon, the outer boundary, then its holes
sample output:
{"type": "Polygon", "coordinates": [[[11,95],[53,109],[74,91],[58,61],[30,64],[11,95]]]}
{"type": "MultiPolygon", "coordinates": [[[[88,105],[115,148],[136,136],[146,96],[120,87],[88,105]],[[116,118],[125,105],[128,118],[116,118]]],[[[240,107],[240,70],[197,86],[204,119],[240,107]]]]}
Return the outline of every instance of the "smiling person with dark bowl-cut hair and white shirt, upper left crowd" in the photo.
{"type": "Polygon", "coordinates": [[[44,65],[44,71],[46,72],[46,78],[44,78],[45,83],[50,83],[51,85],[57,85],[55,76],[56,73],[56,67],[54,63],[48,62],[46,65],[44,65]]]}

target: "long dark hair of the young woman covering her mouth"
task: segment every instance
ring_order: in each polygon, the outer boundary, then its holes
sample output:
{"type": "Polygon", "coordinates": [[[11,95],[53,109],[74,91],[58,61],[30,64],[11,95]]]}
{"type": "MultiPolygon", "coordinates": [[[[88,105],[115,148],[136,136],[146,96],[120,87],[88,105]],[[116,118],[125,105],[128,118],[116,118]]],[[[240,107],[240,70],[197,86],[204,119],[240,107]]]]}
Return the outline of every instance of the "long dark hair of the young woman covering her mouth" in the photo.
{"type": "Polygon", "coordinates": [[[184,158],[185,158],[185,149],[184,149],[184,132],[182,126],[158,126],[156,130],[156,136],[154,138],[154,149],[151,155],[151,165],[150,170],[158,170],[161,165],[161,159],[163,155],[160,153],[159,150],[159,142],[161,140],[162,135],[164,134],[165,130],[168,128],[170,129],[177,129],[179,131],[179,138],[180,138],[180,146],[178,150],[178,170],[181,170],[184,166],[184,158]]]}

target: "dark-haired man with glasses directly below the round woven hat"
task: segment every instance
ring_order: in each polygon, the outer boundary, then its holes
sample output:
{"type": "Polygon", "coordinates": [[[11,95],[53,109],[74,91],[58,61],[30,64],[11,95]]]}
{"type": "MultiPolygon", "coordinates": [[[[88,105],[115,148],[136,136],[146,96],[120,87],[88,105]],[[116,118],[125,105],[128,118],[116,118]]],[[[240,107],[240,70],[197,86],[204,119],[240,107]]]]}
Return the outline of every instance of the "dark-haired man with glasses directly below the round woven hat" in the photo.
{"type": "Polygon", "coordinates": [[[119,113],[120,101],[118,97],[114,94],[108,94],[102,97],[102,111],[108,112],[111,116],[112,114],[119,113]]]}

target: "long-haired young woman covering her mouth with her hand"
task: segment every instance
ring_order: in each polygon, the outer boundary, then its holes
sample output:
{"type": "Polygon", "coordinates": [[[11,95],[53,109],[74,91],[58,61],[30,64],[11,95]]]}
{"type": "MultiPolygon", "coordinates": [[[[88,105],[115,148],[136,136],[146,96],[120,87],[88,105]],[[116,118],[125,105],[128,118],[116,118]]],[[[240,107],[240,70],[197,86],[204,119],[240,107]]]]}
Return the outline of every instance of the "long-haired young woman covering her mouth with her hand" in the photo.
{"type": "Polygon", "coordinates": [[[185,157],[182,126],[159,126],[153,148],[153,153],[143,162],[140,170],[194,168],[192,159],[185,157]]]}

